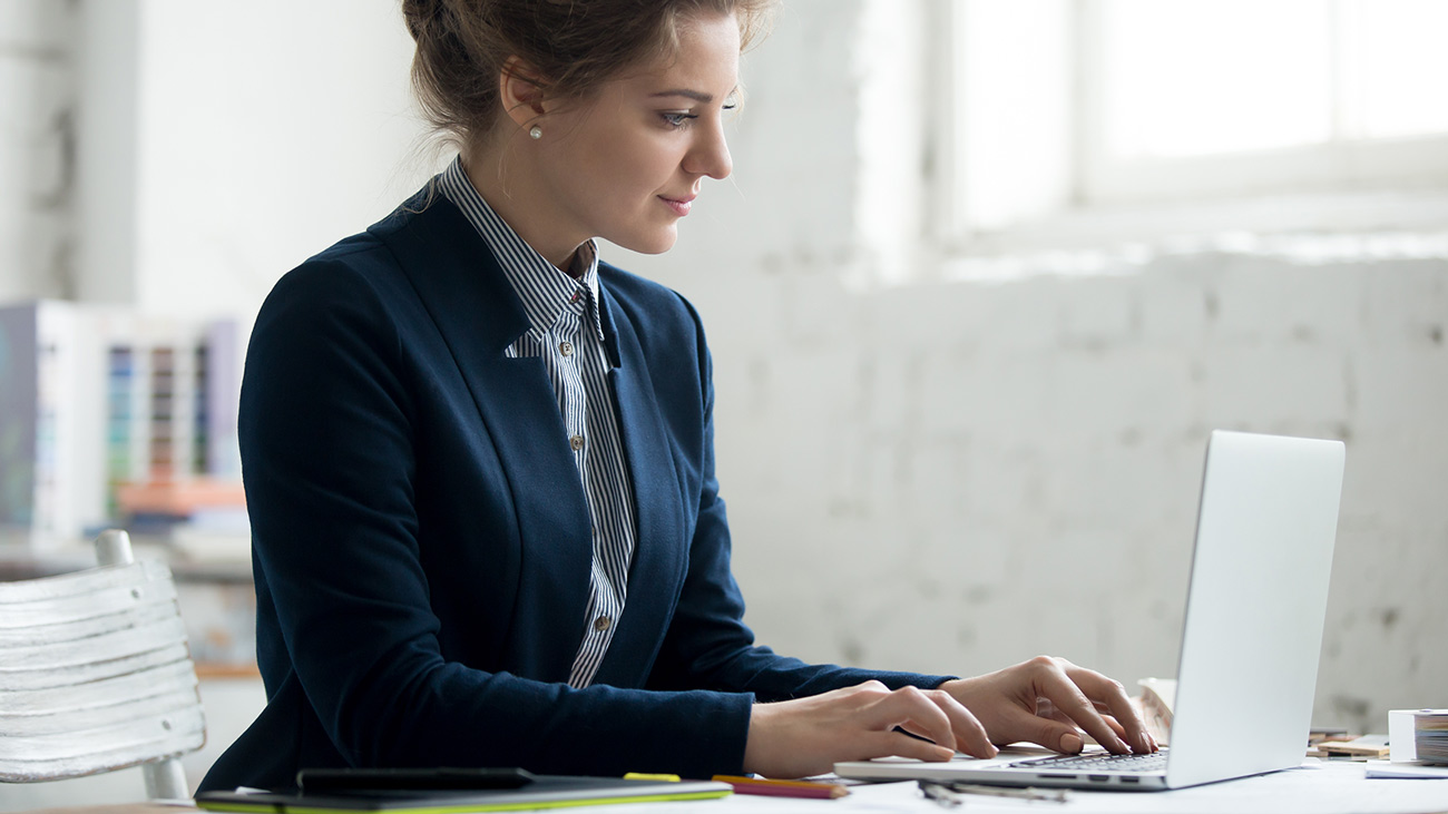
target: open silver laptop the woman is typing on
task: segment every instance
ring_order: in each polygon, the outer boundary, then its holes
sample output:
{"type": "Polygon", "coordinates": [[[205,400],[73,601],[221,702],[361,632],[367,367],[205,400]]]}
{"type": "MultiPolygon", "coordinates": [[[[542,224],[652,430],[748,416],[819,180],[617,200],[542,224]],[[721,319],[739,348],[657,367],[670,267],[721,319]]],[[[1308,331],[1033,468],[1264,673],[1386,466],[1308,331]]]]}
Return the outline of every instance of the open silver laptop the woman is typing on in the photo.
{"type": "Polygon", "coordinates": [[[1300,766],[1312,726],[1344,446],[1216,430],[1208,440],[1171,746],[989,760],[835,763],[841,778],[1158,791],[1300,766]],[[1095,760],[1093,760],[1095,759],[1095,760]],[[1151,763],[1158,763],[1153,766],[1151,763]],[[1142,765],[1145,763],[1145,765],[1142,765]]]}

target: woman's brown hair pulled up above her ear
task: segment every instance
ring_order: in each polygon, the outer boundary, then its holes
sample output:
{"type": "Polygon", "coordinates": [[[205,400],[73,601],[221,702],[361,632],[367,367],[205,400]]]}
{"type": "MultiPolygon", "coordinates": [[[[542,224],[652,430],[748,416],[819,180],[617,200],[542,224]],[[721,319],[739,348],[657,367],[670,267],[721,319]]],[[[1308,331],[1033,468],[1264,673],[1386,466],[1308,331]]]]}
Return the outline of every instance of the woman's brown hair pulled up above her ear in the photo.
{"type": "Polygon", "coordinates": [[[740,42],[767,25],[773,0],[403,0],[417,42],[413,90],[427,120],[466,143],[495,122],[510,56],[549,97],[584,98],[604,81],[678,48],[699,13],[736,14],[740,42]]]}

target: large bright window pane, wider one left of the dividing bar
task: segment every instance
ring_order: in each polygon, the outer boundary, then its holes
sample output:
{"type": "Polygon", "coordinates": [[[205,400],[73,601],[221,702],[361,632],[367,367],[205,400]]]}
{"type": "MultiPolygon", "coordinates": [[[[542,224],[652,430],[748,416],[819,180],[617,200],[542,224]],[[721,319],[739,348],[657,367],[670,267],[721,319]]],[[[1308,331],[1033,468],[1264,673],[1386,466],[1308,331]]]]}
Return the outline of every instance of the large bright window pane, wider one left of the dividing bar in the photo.
{"type": "Polygon", "coordinates": [[[1326,0],[1108,0],[1106,151],[1186,156],[1328,140],[1329,19],[1326,0]]]}

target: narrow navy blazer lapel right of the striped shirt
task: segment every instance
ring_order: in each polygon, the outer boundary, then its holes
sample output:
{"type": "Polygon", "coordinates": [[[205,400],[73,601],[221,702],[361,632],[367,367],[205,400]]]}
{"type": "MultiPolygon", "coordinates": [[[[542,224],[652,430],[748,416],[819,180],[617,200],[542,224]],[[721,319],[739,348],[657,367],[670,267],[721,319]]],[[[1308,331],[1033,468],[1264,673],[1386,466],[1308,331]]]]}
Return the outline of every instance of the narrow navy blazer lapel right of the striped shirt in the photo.
{"type": "Polygon", "coordinates": [[[683,587],[689,546],[682,504],[685,495],[633,322],[607,288],[599,290],[604,335],[615,365],[610,379],[624,455],[633,475],[639,529],[624,613],[594,681],[641,687],[683,587]]]}

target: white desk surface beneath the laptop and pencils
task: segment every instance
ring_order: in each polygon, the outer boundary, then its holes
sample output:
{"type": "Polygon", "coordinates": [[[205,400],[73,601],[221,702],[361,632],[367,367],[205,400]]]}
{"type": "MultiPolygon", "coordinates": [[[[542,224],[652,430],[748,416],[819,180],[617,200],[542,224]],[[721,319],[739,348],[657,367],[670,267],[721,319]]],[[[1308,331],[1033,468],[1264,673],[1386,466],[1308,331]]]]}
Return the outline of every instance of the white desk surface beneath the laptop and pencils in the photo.
{"type": "MultiPolygon", "coordinates": [[[[736,811],[779,811],[811,814],[846,814],[847,811],[948,811],[921,797],[914,782],[851,786],[850,797],[841,800],[788,800],[736,794],[725,800],[698,802],[647,802],[636,805],[589,805],[588,811],[643,814],[733,814],[736,811]]],[[[1293,769],[1258,778],[1245,778],[1179,791],[1163,792],[1103,792],[1073,791],[1066,802],[1040,802],[970,797],[959,808],[961,814],[975,811],[1060,811],[1077,813],[1153,813],[1153,814],[1219,814],[1271,811],[1281,814],[1439,814],[1448,813],[1448,779],[1405,781],[1365,779],[1361,763],[1323,763],[1315,769],[1293,769]]],[[[48,808],[33,814],[178,814],[185,808],[132,804],[83,808],[48,808]]]]}

